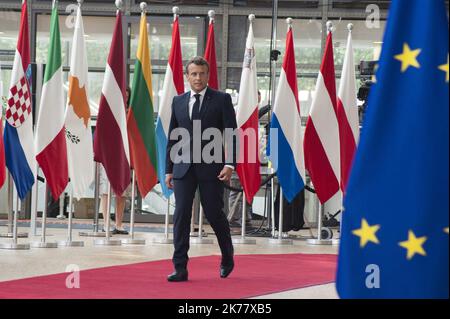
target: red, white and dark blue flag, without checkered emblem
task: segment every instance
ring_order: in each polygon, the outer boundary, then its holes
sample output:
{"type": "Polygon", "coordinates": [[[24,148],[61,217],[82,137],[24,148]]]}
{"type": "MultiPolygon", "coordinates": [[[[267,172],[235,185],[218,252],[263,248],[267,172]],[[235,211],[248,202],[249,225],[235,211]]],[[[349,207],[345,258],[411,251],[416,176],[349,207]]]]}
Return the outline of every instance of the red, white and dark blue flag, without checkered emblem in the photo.
{"type": "Polygon", "coordinates": [[[286,53],[270,123],[270,160],[277,171],[283,194],[289,202],[292,202],[305,186],[302,121],[291,21],[287,20],[289,27],[286,53]],[[275,147],[276,141],[278,149],[275,147]]]}

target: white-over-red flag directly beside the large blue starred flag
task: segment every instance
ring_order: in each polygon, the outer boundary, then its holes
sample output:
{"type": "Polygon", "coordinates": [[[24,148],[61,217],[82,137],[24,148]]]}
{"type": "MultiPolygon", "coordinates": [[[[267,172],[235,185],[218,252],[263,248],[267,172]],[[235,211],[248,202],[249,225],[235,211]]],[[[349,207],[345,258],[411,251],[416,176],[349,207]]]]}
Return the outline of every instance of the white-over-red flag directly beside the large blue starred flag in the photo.
{"type": "Polygon", "coordinates": [[[356,98],[355,61],[352,46],[353,24],[348,25],[347,49],[337,99],[339,138],[341,141],[341,189],[345,192],[359,140],[359,118],[356,98]]]}

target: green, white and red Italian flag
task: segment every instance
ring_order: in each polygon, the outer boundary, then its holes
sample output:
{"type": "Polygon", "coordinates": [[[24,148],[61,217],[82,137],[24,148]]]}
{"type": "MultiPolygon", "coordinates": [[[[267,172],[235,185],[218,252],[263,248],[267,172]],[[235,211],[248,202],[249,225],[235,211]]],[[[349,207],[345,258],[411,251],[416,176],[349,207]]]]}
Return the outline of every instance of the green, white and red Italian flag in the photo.
{"type": "Polygon", "coordinates": [[[56,200],[69,182],[58,6],[53,2],[50,44],[36,125],[36,160],[56,200]]]}

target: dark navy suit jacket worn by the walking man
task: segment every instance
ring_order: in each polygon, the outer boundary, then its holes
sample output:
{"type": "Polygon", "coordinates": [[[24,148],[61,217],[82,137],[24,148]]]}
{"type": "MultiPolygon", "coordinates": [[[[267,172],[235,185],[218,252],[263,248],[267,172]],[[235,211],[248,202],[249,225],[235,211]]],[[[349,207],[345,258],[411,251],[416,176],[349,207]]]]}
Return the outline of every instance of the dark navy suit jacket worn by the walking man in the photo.
{"type": "MultiPolygon", "coordinates": [[[[173,174],[173,178],[181,179],[186,174],[186,172],[191,167],[191,163],[193,161],[193,123],[189,117],[189,99],[191,96],[191,92],[184,93],[182,95],[176,96],[172,102],[172,117],[170,119],[169,126],[169,141],[167,143],[167,151],[166,151],[166,174],[173,174]],[[171,133],[176,128],[185,128],[189,131],[190,140],[184,141],[189,143],[189,154],[183,154],[180,150],[177,155],[172,159],[170,157],[170,152],[172,147],[181,141],[181,138],[171,139],[171,133]],[[181,158],[188,159],[184,162],[181,158]],[[175,163],[174,163],[175,162],[175,163]]],[[[220,130],[220,132],[224,132],[226,128],[236,129],[236,114],[234,112],[233,104],[231,102],[231,96],[227,93],[219,92],[213,90],[211,88],[207,88],[205,96],[203,98],[203,102],[200,108],[200,119],[201,119],[201,132],[203,136],[203,132],[208,128],[216,128],[220,130]]],[[[224,136],[224,135],[222,135],[224,136]]],[[[201,150],[205,145],[211,142],[213,138],[210,136],[207,140],[201,141],[201,150]]],[[[222,146],[222,155],[221,159],[217,162],[213,161],[212,163],[205,163],[204,158],[201,157],[200,163],[194,164],[194,169],[196,176],[199,180],[215,180],[217,179],[217,175],[219,175],[224,165],[233,165],[236,168],[236,158],[237,158],[237,139],[233,139],[233,143],[228,143],[227,150],[231,147],[233,148],[233,156],[230,156],[230,152],[227,152],[227,156],[225,157],[224,148],[222,146]]],[[[181,142],[180,142],[181,143],[181,142]]],[[[185,144],[185,143],[183,143],[185,144]]],[[[178,146],[181,144],[178,144],[178,146]]],[[[187,146],[187,145],[186,145],[187,146]]],[[[178,147],[177,147],[178,148],[178,147]]],[[[212,152],[214,154],[214,152],[212,152]]]]}

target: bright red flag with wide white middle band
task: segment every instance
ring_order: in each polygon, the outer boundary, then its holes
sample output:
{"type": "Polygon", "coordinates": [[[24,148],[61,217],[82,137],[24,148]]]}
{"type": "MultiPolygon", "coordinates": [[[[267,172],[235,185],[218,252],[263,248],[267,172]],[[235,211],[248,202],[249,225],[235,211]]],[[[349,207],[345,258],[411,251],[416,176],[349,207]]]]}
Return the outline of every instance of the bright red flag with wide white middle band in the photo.
{"type": "Polygon", "coordinates": [[[305,166],[322,204],[339,191],[341,176],[332,41],[329,32],[304,140],[305,166]]]}

